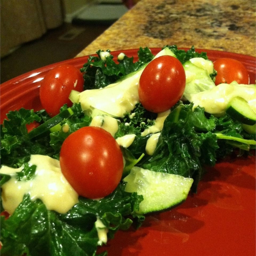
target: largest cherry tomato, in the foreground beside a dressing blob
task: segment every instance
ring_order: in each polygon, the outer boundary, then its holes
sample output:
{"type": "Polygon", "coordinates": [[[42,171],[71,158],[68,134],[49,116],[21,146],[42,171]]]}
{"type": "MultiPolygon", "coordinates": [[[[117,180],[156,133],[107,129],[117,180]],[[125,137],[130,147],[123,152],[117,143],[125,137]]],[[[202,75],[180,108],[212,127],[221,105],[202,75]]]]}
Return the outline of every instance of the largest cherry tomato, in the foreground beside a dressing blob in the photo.
{"type": "Polygon", "coordinates": [[[116,140],[108,131],[93,126],[80,128],[64,140],[60,165],[73,189],[91,199],[111,194],[124,167],[116,140]]]}

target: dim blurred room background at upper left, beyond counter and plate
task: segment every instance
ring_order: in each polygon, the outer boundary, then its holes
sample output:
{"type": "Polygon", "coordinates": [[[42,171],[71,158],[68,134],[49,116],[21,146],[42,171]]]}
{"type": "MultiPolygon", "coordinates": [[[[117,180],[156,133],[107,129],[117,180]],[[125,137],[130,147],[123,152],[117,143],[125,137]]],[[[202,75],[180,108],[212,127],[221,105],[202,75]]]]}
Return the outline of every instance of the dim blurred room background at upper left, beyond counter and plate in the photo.
{"type": "Polygon", "coordinates": [[[133,0],[1,0],[0,83],[75,57],[133,5],[133,0]]]}

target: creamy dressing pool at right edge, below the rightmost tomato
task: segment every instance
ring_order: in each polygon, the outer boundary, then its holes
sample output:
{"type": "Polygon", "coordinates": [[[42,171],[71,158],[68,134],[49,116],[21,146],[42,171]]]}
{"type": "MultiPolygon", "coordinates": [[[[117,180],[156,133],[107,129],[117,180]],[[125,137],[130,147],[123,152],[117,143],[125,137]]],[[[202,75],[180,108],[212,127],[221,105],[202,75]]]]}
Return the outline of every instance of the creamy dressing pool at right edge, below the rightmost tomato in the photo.
{"type": "Polygon", "coordinates": [[[220,114],[226,112],[228,103],[236,96],[245,99],[256,113],[256,90],[253,85],[219,84],[210,90],[192,94],[190,101],[194,102],[194,108],[201,106],[207,113],[220,114]]]}

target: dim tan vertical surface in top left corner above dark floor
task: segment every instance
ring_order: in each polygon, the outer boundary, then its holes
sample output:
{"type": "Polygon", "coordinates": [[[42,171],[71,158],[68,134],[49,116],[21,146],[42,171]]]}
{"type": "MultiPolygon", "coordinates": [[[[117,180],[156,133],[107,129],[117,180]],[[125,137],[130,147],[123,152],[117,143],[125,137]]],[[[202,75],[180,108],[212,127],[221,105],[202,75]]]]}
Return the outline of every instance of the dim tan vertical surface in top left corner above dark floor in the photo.
{"type": "Polygon", "coordinates": [[[62,23],[62,0],[2,0],[1,57],[8,55],[23,43],[40,38],[47,29],[57,28],[62,23]]]}

